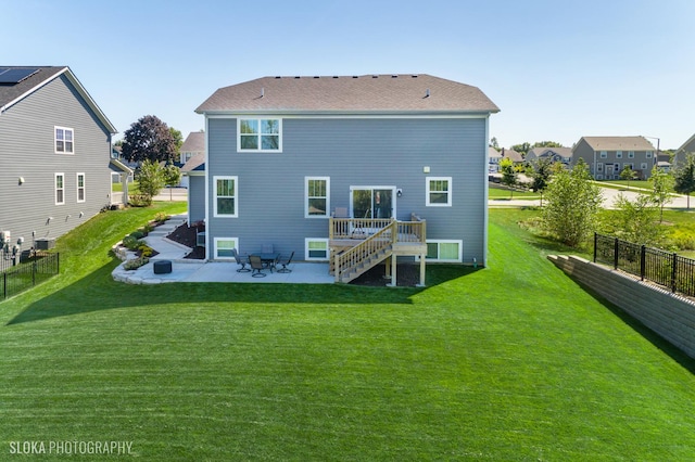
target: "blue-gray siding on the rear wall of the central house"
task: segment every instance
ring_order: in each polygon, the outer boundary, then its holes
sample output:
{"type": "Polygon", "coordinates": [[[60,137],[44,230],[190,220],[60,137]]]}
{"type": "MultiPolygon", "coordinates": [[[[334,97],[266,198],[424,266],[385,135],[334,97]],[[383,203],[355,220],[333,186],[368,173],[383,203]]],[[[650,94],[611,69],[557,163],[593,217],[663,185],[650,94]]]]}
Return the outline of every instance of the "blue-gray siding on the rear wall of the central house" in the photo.
{"type": "Polygon", "coordinates": [[[351,185],[393,185],[397,219],[415,213],[428,240],[463,240],[464,261],[483,261],[486,121],[283,118],[281,153],[237,153],[237,120],[210,118],[207,242],[238,238],[241,253],[273,243],[302,259],[306,238],[328,238],[328,219],[304,217],[305,177],[330,177],[331,211],[350,207],[351,185]],[[213,217],[214,176],[238,177],[238,218],[213,217]],[[426,206],[427,177],[452,177],[452,207],[426,206]]]}

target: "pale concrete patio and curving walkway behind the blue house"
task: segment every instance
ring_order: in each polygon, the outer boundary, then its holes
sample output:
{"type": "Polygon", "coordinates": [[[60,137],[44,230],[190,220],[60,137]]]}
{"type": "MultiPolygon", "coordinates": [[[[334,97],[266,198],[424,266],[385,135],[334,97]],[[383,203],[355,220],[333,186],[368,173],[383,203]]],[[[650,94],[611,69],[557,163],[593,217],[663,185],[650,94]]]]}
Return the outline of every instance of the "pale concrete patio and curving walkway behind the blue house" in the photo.
{"type": "MultiPolygon", "coordinates": [[[[265,278],[253,278],[251,272],[237,272],[236,261],[204,261],[184,258],[191,249],[166,239],[172,231],[186,221],[185,215],[173,216],[166,223],[144,238],[146,243],[159,254],[150,262],[137,270],[126,271],[123,264],[111,273],[115,281],[128,284],[162,284],[167,282],[258,282],[286,284],[332,284],[334,279],[328,273],[328,264],[292,262],[292,272],[264,271],[265,278]],[[154,273],[154,262],[172,261],[172,272],[154,273]]],[[[135,258],[135,254],[128,258],[135,258]]]]}

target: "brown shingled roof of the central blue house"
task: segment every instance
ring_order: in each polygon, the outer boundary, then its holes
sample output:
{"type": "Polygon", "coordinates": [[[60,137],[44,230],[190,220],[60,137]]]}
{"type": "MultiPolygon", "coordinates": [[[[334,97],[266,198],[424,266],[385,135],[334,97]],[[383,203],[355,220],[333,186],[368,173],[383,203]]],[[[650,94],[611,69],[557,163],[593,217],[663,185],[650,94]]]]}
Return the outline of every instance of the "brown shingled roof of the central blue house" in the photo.
{"type": "Polygon", "coordinates": [[[477,87],[418,74],[263,77],[218,89],[195,112],[489,114],[500,108],[477,87]]]}

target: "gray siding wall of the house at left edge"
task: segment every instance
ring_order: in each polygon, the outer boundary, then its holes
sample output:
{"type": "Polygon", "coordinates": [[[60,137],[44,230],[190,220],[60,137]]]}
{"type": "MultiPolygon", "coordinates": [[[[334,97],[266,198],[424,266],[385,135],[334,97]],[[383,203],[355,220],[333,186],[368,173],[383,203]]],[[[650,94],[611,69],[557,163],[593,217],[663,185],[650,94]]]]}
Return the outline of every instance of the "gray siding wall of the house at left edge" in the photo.
{"type": "Polygon", "coordinates": [[[8,108],[0,114],[0,229],[14,242],[23,236],[26,249],[33,231],[58,238],[98,214],[110,203],[110,154],[109,130],[64,76],[8,108]],[[55,126],[74,130],[74,154],[55,154],[55,126]],[[64,174],[64,205],[55,205],[56,172],[64,174]],[[77,172],[85,174],[84,203],[77,172]]]}

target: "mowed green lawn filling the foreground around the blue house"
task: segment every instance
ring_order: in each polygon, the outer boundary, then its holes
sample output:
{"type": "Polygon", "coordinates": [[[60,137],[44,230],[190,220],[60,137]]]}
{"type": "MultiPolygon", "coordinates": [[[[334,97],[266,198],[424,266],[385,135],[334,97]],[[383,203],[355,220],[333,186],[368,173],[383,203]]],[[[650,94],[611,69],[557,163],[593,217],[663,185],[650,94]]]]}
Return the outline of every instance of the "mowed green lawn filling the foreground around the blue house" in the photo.
{"type": "Polygon", "coordinates": [[[0,303],[0,460],[27,440],[148,461],[695,453],[694,362],[555,269],[565,249],[516,226],[535,211],[491,210],[489,268],[432,265],[424,290],[113,282],[110,244],[176,207],[100,215],[59,240],[59,278],[0,303]]]}

